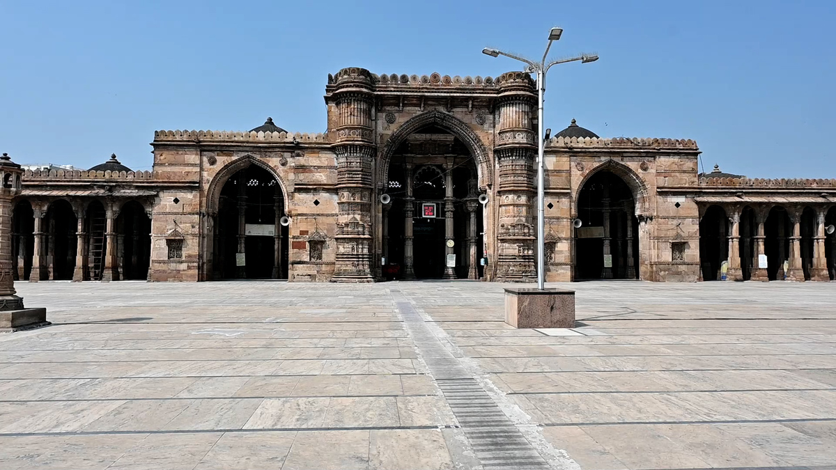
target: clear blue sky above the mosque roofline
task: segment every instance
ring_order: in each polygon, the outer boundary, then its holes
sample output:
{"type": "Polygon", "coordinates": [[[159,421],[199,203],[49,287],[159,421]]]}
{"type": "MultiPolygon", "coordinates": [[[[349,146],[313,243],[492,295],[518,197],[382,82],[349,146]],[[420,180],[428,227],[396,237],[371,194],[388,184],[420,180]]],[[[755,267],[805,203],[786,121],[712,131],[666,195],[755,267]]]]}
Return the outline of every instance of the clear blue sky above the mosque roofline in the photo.
{"type": "Polygon", "coordinates": [[[548,76],[546,125],[695,139],[711,171],[836,177],[827,1],[0,3],[0,151],[150,169],[159,129],[325,130],[329,73],[496,76],[485,46],[596,52],[548,76]]]}

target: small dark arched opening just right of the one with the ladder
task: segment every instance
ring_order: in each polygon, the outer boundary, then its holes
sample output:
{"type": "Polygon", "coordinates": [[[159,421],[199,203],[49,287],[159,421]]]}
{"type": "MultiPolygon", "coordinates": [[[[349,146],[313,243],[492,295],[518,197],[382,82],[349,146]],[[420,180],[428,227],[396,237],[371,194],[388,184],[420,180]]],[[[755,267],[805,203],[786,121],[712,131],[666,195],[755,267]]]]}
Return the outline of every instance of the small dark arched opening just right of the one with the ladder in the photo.
{"type": "Polygon", "coordinates": [[[145,207],[131,201],[122,206],[116,220],[121,279],[147,279],[151,253],[151,221],[145,207]]]}

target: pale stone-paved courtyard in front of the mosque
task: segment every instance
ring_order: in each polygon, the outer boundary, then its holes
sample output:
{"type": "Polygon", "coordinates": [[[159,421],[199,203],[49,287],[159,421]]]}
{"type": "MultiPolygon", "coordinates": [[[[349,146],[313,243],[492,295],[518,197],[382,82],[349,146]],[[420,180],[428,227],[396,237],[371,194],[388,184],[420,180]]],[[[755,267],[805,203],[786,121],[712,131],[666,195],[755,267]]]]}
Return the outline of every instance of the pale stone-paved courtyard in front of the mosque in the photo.
{"type": "Polygon", "coordinates": [[[836,468],[833,284],[18,283],[0,468],[836,468]],[[553,284],[558,286],[560,284],[553,284]]]}

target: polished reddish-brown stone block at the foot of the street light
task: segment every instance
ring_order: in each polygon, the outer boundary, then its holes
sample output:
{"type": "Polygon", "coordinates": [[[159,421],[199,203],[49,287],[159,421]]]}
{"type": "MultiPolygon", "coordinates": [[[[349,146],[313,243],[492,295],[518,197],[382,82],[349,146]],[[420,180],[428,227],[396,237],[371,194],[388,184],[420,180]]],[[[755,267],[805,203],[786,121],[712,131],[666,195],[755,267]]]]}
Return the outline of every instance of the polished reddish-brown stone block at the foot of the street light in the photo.
{"type": "Polygon", "coordinates": [[[573,328],[574,291],[505,289],[505,323],[515,328],[573,328]]]}

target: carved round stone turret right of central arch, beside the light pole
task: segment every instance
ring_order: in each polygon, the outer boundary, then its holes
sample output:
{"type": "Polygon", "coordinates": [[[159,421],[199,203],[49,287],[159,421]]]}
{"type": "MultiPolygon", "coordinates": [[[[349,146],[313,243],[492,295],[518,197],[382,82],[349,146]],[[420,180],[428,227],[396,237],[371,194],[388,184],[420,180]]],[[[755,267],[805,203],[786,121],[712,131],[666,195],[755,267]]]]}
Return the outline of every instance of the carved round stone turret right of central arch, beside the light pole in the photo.
{"type": "Polygon", "coordinates": [[[536,278],[537,232],[533,221],[535,87],[531,77],[522,72],[502,74],[497,83],[497,280],[531,282],[536,278]]]}

